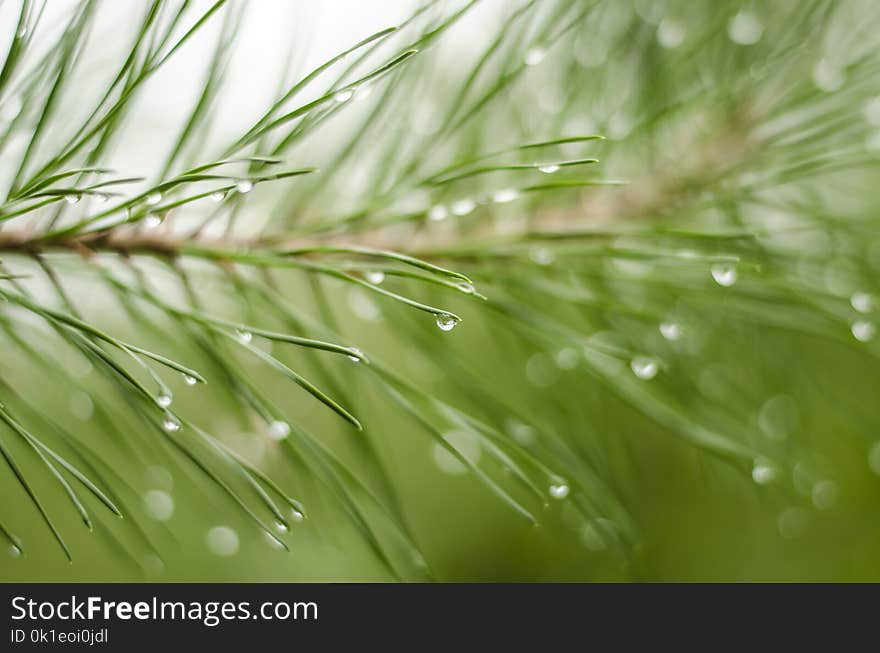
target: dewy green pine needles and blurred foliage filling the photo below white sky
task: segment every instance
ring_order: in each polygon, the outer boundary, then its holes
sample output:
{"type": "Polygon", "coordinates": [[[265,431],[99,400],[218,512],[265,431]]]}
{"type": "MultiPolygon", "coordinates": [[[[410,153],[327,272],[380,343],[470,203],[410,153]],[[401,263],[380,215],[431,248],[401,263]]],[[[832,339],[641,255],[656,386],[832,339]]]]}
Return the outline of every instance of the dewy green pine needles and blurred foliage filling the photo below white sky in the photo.
{"type": "Polygon", "coordinates": [[[232,139],[259,4],[135,6],[6,30],[0,579],[880,575],[880,6],[430,2],[232,139]]]}

